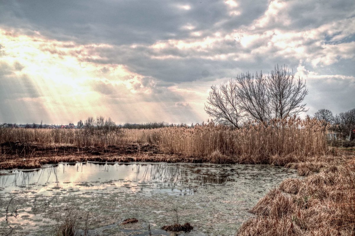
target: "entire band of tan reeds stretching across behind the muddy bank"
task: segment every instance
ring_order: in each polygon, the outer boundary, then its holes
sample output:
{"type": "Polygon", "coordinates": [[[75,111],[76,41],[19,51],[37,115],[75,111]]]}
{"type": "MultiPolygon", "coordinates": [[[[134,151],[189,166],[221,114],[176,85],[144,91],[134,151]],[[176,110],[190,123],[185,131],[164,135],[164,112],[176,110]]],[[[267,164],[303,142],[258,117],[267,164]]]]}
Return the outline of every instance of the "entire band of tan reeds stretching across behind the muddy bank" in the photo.
{"type": "Polygon", "coordinates": [[[41,145],[108,146],[151,144],[166,153],[207,157],[215,153],[243,163],[284,165],[295,156],[329,151],[324,127],[315,119],[289,118],[231,129],[214,123],[157,129],[0,129],[0,143],[26,141],[41,145]]]}

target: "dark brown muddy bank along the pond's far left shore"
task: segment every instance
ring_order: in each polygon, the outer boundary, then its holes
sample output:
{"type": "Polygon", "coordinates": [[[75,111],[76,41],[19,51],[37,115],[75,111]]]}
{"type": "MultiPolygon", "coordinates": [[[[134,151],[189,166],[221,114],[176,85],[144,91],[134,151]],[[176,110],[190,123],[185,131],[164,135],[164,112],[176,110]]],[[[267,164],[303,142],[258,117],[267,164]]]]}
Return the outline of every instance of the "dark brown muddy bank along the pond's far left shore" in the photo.
{"type": "Polygon", "coordinates": [[[45,146],[24,142],[6,142],[0,145],[0,169],[40,168],[59,162],[191,162],[202,158],[166,154],[154,145],[127,145],[107,147],[45,146]]]}

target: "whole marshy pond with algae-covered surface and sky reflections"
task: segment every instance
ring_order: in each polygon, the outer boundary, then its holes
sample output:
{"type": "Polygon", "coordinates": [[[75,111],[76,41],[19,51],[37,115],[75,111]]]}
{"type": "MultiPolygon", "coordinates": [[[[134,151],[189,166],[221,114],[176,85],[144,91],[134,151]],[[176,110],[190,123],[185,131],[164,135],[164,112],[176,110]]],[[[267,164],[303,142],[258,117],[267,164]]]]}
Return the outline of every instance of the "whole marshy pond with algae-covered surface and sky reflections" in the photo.
{"type": "Polygon", "coordinates": [[[0,172],[0,235],[52,235],[68,216],[79,234],[234,235],[253,205],[293,169],[270,165],[59,163],[0,172]],[[122,225],[127,218],[138,223],[122,225]]]}

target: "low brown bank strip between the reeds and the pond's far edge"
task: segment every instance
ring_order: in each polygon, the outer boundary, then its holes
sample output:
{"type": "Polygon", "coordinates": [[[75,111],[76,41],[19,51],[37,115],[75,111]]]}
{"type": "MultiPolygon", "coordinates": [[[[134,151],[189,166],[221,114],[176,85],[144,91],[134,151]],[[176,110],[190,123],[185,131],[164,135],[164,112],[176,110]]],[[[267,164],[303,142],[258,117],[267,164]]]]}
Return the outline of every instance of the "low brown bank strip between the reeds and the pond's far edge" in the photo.
{"type": "Polygon", "coordinates": [[[44,164],[59,162],[187,162],[215,164],[271,164],[299,169],[299,174],[308,176],[319,172],[327,165],[343,163],[350,151],[329,153],[326,155],[302,156],[264,155],[263,158],[248,153],[225,155],[219,150],[207,156],[186,156],[182,153],[163,151],[156,145],[122,145],[122,146],[48,146],[28,142],[6,142],[0,144],[0,169],[31,169],[40,168],[44,164]],[[336,154],[339,153],[339,154],[336,154]],[[344,155],[345,153],[346,155],[344,155]]]}

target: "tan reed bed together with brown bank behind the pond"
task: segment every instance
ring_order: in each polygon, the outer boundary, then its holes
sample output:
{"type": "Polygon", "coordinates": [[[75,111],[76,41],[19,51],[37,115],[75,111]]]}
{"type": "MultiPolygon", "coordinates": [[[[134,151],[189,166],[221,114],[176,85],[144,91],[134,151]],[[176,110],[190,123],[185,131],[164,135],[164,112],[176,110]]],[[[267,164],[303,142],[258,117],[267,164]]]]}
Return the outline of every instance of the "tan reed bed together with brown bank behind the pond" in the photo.
{"type": "Polygon", "coordinates": [[[0,169],[60,161],[182,161],[290,165],[309,175],[324,165],[315,162],[334,162],[334,154],[323,124],[309,118],[241,129],[214,123],[139,130],[0,129],[0,169]]]}

